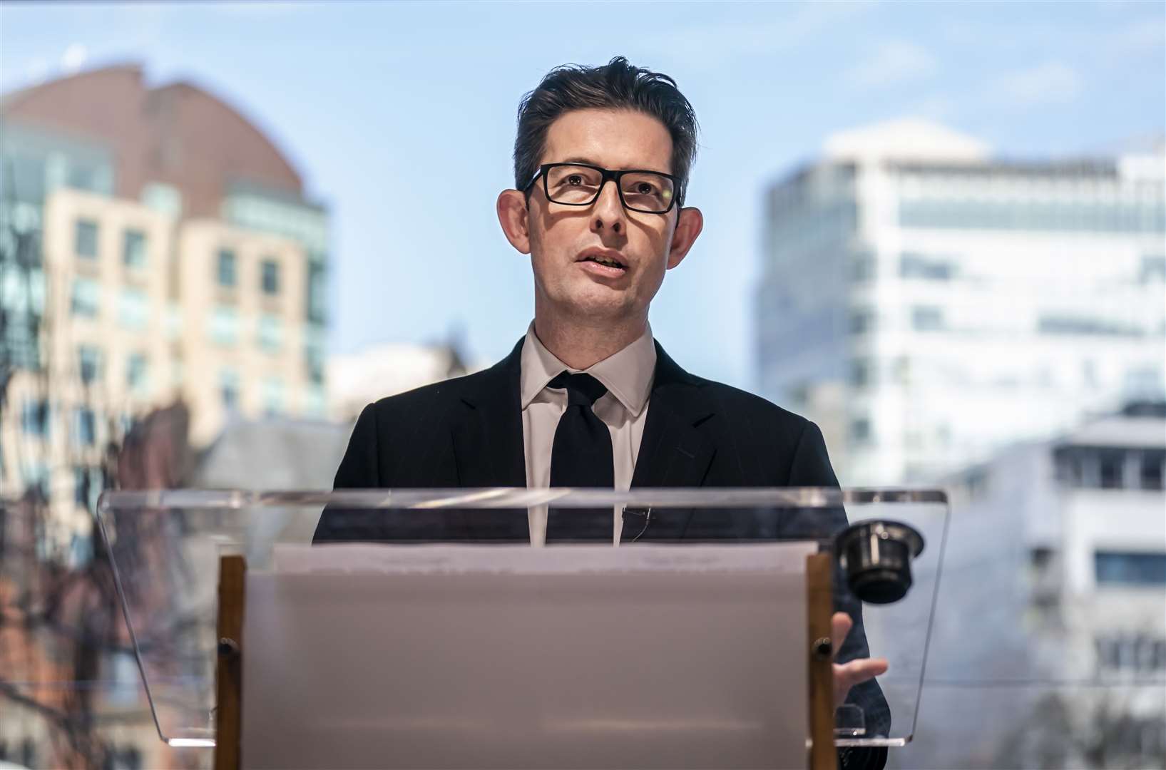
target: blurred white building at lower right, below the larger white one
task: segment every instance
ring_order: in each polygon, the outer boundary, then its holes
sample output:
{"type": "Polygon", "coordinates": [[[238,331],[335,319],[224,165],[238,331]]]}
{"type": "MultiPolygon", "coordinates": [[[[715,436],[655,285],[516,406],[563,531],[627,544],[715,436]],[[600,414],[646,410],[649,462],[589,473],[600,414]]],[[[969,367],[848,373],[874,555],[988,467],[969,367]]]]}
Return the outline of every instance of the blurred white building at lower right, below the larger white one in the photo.
{"type": "Polygon", "coordinates": [[[901,767],[1166,762],[1164,478],[1166,402],[1142,402],[943,479],[950,527],[901,767]]]}

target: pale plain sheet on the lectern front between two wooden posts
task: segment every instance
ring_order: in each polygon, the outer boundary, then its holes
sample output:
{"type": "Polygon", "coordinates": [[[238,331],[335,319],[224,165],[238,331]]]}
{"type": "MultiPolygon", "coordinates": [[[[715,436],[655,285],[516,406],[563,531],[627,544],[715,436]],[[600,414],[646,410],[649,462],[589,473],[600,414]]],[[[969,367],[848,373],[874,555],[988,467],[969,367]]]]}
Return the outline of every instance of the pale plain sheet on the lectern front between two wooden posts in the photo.
{"type": "Polygon", "coordinates": [[[805,768],[815,550],[279,548],[244,767],[805,768]]]}

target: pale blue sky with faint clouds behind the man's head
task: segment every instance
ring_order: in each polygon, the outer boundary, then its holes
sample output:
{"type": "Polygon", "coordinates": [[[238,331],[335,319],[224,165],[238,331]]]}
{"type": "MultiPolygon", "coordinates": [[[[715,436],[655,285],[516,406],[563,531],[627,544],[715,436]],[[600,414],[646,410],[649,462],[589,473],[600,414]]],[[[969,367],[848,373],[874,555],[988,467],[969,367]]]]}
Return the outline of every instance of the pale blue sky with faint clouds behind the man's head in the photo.
{"type": "Polygon", "coordinates": [[[676,78],[702,126],[705,229],[652,308],[682,366],[752,387],[761,192],[829,133],[925,116],[999,155],[1097,154],[1166,123],[1166,3],[0,6],[0,89],[138,61],[264,127],[333,222],[331,346],[459,327],[494,360],[533,313],[493,213],[521,94],[614,55],[676,78]]]}

